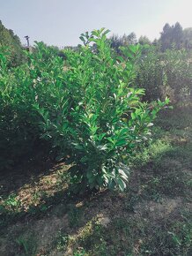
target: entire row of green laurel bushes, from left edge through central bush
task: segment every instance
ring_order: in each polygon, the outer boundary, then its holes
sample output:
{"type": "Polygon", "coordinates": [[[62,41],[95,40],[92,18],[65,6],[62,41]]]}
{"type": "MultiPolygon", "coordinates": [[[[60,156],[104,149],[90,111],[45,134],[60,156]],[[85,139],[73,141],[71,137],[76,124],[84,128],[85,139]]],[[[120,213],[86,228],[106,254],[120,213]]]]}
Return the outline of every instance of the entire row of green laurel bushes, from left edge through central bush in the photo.
{"type": "Polygon", "coordinates": [[[151,136],[151,121],[165,105],[142,103],[144,89],[131,87],[139,45],[116,57],[107,32],[82,34],[84,46],[66,49],[65,61],[43,43],[12,70],[1,54],[1,150],[9,146],[15,156],[19,147],[47,140],[57,160],[69,155],[71,182],[81,191],[124,190],[129,155],[151,136]]]}

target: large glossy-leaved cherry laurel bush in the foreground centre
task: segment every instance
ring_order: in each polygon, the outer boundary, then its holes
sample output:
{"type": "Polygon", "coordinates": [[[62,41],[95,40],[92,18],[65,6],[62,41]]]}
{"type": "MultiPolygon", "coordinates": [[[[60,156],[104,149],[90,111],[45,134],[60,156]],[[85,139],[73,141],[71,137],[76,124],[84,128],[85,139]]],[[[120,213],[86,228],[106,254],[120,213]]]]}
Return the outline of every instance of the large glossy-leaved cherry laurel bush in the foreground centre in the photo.
{"type": "MultiPolygon", "coordinates": [[[[129,156],[151,136],[152,121],[168,102],[141,102],[144,89],[131,87],[141,46],[122,48],[116,56],[108,32],[102,28],[81,34],[83,46],[64,50],[62,69],[58,60],[50,60],[55,69],[46,72],[49,100],[41,95],[34,104],[41,137],[59,152],[58,160],[70,155],[71,182],[81,192],[87,187],[126,188],[129,156]]],[[[42,49],[37,50],[41,55],[42,49]]],[[[42,74],[41,67],[40,61],[38,66],[33,62],[33,70],[42,74]]]]}

